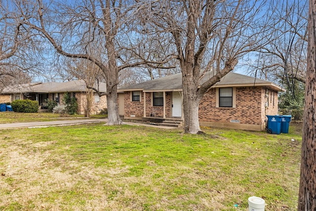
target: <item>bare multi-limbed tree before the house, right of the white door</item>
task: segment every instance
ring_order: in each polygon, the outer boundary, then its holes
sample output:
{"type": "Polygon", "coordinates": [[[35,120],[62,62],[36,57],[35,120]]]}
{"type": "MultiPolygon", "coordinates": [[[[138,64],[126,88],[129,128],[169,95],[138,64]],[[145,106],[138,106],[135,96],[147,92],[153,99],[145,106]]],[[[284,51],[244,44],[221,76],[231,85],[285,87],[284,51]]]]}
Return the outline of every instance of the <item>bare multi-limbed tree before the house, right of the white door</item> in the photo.
{"type": "Polygon", "coordinates": [[[184,129],[187,133],[197,133],[200,131],[198,105],[204,93],[235,68],[238,58],[257,49],[262,21],[256,15],[263,2],[152,0],[142,3],[147,9],[142,12],[142,21],[147,24],[144,31],[171,35],[170,42],[176,49],[182,71],[184,129]],[[206,74],[210,71],[211,74],[206,74]]]}

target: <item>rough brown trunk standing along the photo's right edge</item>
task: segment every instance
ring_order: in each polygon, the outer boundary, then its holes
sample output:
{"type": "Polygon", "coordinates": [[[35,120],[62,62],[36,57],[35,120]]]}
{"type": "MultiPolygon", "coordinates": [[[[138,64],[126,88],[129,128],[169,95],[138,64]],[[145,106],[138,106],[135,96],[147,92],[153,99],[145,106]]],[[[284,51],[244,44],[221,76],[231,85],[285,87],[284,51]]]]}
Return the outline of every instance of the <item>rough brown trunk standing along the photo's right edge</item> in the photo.
{"type": "Polygon", "coordinates": [[[316,211],[316,2],[310,0],[298,211],[316,211]]]}

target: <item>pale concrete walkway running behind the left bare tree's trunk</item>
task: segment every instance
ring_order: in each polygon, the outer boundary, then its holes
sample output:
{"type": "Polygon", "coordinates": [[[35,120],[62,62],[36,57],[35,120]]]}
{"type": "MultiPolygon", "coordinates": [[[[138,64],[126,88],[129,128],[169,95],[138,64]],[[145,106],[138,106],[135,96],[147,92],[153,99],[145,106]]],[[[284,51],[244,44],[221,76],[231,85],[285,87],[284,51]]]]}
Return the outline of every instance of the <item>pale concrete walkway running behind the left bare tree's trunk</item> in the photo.
{"type": "MultiPolygon", "coordinates": [[[[72,126],[72,125],[82,125],[82,124],[91,124],[91,123],[106,123],[108,119],[76,119],[76,120],[58,120],[51,122],[29,122],[29,123],[7,123],[0,124],[0,129],[15,129],[15,128],[36,128],[36,127],[61,127],[61,126],[72,126]]],[[[177,127],[165,127],[157,126],[143,123],[132,123],[132,122],[123,122],[125,125],[131,126],[146,126],[146,127],[158,127],[164,129],[175,129],[177,127]]]]}

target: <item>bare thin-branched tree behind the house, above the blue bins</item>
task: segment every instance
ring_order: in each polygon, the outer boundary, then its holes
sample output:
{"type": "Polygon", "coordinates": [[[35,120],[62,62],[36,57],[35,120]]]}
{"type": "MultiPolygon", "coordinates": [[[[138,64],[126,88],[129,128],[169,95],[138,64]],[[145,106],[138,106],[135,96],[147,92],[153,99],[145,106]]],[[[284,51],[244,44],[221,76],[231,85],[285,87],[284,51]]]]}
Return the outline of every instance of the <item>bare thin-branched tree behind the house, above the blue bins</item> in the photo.
{"type": "Polygon", "coordinates": [[[292,87],[291,79],[305,83],[307,61],[308,1],[273,0],[267,9],[272,26],[267,43],[258,49],[256,60],[248,60],[249,73],[259,78],[284,81],[292,87]]]}

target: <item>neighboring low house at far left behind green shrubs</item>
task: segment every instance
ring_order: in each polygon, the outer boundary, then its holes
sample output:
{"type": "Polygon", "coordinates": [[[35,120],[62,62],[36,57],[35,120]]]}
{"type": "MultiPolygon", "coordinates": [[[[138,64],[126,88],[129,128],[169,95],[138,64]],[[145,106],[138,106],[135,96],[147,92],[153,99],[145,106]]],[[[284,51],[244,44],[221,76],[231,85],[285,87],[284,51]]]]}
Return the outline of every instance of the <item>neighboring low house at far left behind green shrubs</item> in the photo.
{"type": "MultiPolygon", "coordinates": [[[[100,84],[100,92],[106,92],[106,84],[100,84]]],[[[12,102],[17,99],[31,99],[39,101],[39,106],[45,105],[45,100],[55,100],[57,103],[62,103],[63,96],[66,92],[77,98],[78,113],[84,114],[86,109],[86,95],[88,89],[84,81],[69,81],[69,82],[51,82],[51,83],[35,83],[35,84],[20,84],[6,87],[0,94],[0,103],[12,102]]],[[[100,110],[107,108],[106,96],[99,97],[94,92],[91,106],[91,114],[97,114],[100,110]]]]}

